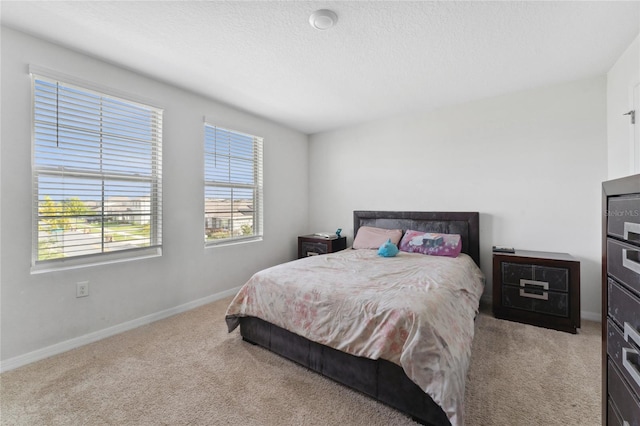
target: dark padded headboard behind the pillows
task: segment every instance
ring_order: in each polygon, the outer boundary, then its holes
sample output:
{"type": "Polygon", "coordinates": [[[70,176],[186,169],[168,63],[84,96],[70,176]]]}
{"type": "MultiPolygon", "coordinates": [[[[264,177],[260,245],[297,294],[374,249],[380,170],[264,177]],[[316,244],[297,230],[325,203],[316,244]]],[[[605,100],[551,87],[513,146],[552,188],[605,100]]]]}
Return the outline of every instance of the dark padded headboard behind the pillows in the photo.
{"type": "Polygon", "coordinates": [[[480,266],[480,215],[478,212],[353,212],[353,235],[361,226],[384,229],[407,229],[442,234],[459,234],[462,252],[471,256],[480,266]]]}

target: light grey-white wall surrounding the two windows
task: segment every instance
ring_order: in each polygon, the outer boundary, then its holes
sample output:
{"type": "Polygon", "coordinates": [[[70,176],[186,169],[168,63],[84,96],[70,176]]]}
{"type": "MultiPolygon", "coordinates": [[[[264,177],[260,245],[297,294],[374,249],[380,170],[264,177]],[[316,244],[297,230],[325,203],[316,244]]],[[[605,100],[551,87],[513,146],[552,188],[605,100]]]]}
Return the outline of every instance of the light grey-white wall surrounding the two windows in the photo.
{"type": "Polygon", "coordinates": [[[82,342],[82,336],[96,336],[147,315],[229,294],[257,270],[295,258],[296,236],[308,231],[306,135],[6,28],[2,29],[1,70],[3,362],[20,364],[66,348],[69,339],[82,342]],[[30,274],[29,64],[164,107],[162,257],[30,274]],[[220,126],[264,137],[262,242],[203,247],[205,115],[220,126]],[[75,297],[78,281],[90,282],[89,297],[75,297]]]}

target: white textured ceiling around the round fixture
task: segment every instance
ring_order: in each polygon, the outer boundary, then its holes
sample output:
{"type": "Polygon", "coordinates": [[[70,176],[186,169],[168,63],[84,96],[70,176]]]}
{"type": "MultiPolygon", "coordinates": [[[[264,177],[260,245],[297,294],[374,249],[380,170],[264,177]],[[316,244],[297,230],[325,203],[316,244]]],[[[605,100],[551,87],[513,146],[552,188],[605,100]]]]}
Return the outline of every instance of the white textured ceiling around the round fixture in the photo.
{"type": "MultiPolygon", "coordinates": [[[[315,133],[606,73],[640,2],[2,1],[3,25],[315,133]],[[327,31],[309,15],[338,14],[327,31]]],[[[640,66],[640,64],[639,64],[640,66]]]]}

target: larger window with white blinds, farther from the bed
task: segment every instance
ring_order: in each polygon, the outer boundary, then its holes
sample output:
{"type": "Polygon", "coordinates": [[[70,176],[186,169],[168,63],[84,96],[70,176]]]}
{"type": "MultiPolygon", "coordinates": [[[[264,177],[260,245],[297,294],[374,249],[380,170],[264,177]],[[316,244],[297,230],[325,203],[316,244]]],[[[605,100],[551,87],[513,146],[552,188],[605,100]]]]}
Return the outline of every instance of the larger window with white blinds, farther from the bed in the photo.
{"type": "Polygon", "coordinates": [[[35,74],[33,96],[34,265],[159,252],[162,111],[35,74]]]}

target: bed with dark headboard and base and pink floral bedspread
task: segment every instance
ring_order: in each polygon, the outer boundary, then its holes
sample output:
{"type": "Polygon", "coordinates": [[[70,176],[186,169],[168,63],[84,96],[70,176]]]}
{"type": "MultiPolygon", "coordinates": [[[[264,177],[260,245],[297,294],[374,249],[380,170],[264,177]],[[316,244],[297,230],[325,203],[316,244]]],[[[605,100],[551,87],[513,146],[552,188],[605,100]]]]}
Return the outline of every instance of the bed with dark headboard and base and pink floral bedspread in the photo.
{"type": "Polygon", "coordinates": [[[243,340],[369,395],[421,424],[464,424],[473,321],[484,288],[478,267],[478,213],[355,211],[353,218],[354,235],[362,227],[460,235],[461,254],[453,259],[400,252],[385,259],[375,250],[348,248],[268,268],[254,275],[231,302],[226,315],[229,332],[239,326],[243,340]],[[407,277],[422,276],[426,269],[450,277],[451,264],[464,279],[438,278],[447,284],[436,285],[429,277],[424,282],[432,289],[426,299],[404,293],[407,277]],[[386,287],[374,288],[369,284],[374,281],[386,287]],[[267,301],[267,297],[273,298],[267,301]],[[429,313],[405,309],[401,304],[405,299],[410,299],[408,304],[428,305],[429,313]],[[326,320],[327,306],[338,307],[332,308],[338,309],[331,314],[336,317],[333,323],[326,320]],[[364,312],[365,325],[353,320],[354,311],[364,312]],[[421,320],[425,315],[429,319],[421,320]],[[336,321],[344,330],[336,331],[336,321]]]}

